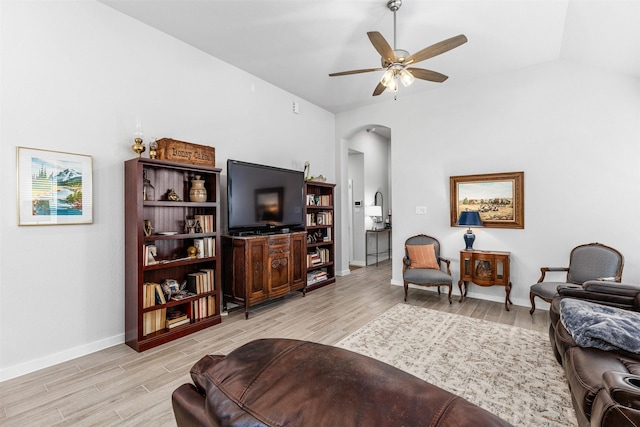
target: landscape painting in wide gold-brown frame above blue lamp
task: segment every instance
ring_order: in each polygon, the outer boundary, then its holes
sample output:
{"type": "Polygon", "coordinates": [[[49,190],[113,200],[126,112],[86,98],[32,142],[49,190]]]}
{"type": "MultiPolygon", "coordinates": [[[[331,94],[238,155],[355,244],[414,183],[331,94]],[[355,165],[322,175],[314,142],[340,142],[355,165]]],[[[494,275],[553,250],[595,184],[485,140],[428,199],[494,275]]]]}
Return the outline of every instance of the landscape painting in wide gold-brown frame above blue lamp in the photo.
{"type": "Polygon", "coordinates": [[[470,210],[485,227],[524,228],[524,172],[452,176],[449,191],[452,227],[470,210]]]}

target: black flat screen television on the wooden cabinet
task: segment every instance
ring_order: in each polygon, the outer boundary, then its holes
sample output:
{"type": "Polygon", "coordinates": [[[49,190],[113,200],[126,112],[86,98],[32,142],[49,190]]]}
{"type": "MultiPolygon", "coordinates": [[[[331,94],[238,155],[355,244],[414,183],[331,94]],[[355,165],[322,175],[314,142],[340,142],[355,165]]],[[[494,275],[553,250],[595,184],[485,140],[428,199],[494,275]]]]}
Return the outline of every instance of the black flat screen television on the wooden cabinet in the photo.
{"type": "Polygon", "coordinates": [[[229,233],[304,227],[304,172],[227,160],[229,233]]]}

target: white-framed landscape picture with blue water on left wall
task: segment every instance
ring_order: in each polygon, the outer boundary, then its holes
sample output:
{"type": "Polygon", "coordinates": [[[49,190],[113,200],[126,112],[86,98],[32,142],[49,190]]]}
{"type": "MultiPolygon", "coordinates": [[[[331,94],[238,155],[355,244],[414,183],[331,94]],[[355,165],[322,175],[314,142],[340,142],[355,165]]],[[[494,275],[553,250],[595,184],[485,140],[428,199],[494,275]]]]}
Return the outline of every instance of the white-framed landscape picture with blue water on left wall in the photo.
{"type": "Polygon", "coordinates": [[[18,147],[18,225],[93,223],[92,157],[18,147]]]}

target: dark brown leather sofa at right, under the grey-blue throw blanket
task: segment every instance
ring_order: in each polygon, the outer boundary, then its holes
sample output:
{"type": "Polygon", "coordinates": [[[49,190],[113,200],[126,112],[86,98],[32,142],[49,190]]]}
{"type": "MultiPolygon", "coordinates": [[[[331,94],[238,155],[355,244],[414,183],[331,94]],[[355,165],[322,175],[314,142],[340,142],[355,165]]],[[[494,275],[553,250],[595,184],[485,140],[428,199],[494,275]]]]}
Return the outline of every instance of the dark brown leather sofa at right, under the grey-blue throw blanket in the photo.
{"type": "Polygon", "coordinates": [[[563,298],[640,311],[640,286],[602,281],[560,286],[549,311],[549,339],[564,367],[578,424],[640,426],[640,355],[578,346],[560,320],[563,298]]]}

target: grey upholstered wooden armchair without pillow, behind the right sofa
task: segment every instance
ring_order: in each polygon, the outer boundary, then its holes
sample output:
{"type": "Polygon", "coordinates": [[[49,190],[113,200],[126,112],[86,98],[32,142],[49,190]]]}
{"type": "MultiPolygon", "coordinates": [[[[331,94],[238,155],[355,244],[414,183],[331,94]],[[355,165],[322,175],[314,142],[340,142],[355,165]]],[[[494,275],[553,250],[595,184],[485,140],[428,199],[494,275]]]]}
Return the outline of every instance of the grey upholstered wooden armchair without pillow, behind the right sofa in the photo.
{"type": "Polygon", "coordinates": [[[558,286],[566,284],[580,285],[589,280],[606,280],[620,282],[624,257],[616,249],[601,243],[588,243],[573,248],[569,256],[569,267],[542,267],[542,275],[538,283],[531,286],[529,299],[531,300],[530,314],[536,310],[534,298],[538,297],[551,302],[558,294],[558,286]],[[545,282],[547,272],[567,272],[564,282],[545,282]]]}

